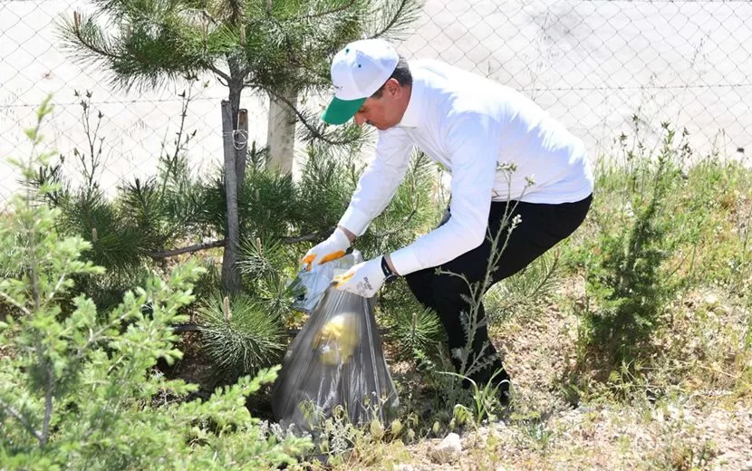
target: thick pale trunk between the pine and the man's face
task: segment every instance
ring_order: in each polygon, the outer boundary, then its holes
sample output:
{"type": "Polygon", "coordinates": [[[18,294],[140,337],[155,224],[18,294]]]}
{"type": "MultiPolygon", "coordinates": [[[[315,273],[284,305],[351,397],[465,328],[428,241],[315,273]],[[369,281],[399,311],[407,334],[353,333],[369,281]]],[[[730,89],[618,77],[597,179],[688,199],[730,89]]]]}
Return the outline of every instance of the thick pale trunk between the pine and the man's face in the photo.
{"type": "MultiPolygon", "coordinates": [[[[286,91],[284,98],[297,106],[297,92],[286,91]]],[[[266,145],[269,148],[268,168],[284,175],[293,173],[295,144],[295,113],[290,106],[274,96],[269,96],[269,130],[266,145]]]]}

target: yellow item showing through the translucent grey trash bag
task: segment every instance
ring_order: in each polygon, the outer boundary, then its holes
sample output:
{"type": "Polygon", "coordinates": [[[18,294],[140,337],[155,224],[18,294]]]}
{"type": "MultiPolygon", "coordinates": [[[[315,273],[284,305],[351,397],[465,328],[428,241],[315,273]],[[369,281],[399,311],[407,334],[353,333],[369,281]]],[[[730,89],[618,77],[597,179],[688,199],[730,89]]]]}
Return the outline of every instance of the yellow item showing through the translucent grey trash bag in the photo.
{"type": "Polygon", "coordinates": [[[313,350],[325,365],[347,363],[361,341],[361,319],[355,312],[343,312],[326,322],[313,337],[313,350]]]}

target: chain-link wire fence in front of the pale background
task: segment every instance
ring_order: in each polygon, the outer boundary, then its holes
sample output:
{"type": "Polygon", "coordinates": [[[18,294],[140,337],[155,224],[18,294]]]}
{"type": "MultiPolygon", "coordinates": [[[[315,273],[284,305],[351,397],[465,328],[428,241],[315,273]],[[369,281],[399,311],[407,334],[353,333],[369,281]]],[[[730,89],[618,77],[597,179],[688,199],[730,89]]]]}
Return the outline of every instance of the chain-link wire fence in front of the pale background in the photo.
{"type": "MultiPolygon", "coordinates": [[[[81,98],[92,91],[101,111],[102,186],[151,175],[161,146],[172,147],[185,87],[116,91],[58,47],[61,14],[87,11],[73,0],[0,2],[0,155],[27,151],[24,128],[44,96],[56,112],[44,128],[64,156],[88,149],[81,98]]],[[[752,3],[748,1],[427,0],[400,52],[439,58],[524,91],[585,139],[593,159],[630,132],[645,137],[660,122],[687,127],[701,152],[738,156],[752,139],[752,3]]],[[[222,160],[219,101],[224,87],[193,87],[187,130],[199,170],[222,160]]],[[[268,101],[245,97],[250,139],[265,142],[268,101]]],[[[96,123],[97,116],[90,116],[96,123]]],[[[747,150],[748,151],[748,150],[747,150]]],[[[0,163],[0,200],[15,177],[0,163]]],[[[75,165],[75,159],[68,164],[75,165]]]]}

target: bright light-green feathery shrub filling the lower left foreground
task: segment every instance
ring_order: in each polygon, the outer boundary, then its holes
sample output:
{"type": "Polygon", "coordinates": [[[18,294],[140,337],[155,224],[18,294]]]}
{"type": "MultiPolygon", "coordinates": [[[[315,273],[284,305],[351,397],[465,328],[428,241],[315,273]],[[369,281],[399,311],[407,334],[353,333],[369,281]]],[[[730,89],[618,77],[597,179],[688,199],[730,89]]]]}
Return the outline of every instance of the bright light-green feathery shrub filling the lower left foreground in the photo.
{"type": "MultiPolygon", "coordinates": [[[[36,128],[51,111],[45,101],[36,128]]],[[[44,161],[50,154],[43,153],[44,161]]],[[[101,274],[81,260],[90,244],[56,231],[60,211],[43,203],[54,187],[37,191],[35,159],[15,162],[27,183],[14,197],[14,217],[0,220],[0,467],[24,469],[259,469],[289,463],[307,440],[265,437],[245,407],[246,396],[275,379],[262,370],[217,390],[206,402],[182,399],[198,389],[167,380],[159,359],[181,357],[170,326],[193,301],[199,269],[178,266],[163,281],[149,277],[110,312],[72,293],[72,275],[101,274]],[[72,297],[70,315],[61,298],[72,297]],[[165,402],[165,401],[161,401],[165,402]]]]}

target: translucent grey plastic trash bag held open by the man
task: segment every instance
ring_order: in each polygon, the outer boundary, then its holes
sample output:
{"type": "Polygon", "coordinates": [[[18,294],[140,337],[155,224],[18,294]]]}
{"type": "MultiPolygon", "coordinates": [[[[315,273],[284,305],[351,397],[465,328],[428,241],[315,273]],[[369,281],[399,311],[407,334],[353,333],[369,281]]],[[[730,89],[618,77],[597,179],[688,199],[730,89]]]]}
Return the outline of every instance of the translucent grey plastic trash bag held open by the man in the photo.
{"type": "Polygon", "coordinates": [[[316,274],[328,277],[327,287],[284,355],[272,390],[272,411],[284,428],[313,431],[338,407],[352,424],[373,418],[384,423],[399,406],[373,315],[375,300],[329,287],[335,271],[361,261],[355,252],[316,274]]]}

